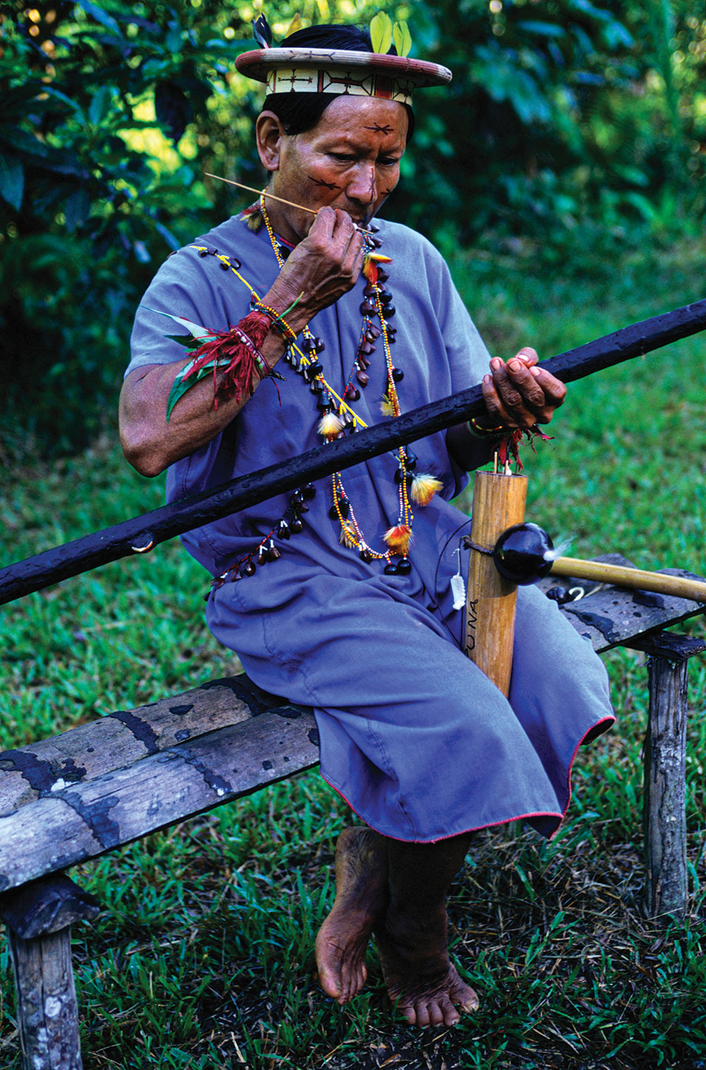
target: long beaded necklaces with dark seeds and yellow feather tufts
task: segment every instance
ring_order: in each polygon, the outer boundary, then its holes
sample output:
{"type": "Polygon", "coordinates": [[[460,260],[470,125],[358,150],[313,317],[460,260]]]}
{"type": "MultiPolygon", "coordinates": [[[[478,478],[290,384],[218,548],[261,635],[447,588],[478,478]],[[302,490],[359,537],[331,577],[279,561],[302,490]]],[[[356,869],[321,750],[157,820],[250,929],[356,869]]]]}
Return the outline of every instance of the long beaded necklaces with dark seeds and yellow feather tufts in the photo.
{"type": "MultiPolygon", "coordinates": [[[[259,214],[281,271],[285,266],[285,259],[265,209],[264,190],[260,195],[259,214]]],[[[401,412],[397,383],[401,382],[403,372],[402,369],[396,368],[393,364],[392,346],[395,345],[397,331],[388,322],[395,316],[395,306],[392,293],[384,286],[388,274],[383,265],[392,261],[389,257],[377,251],[382,245],[380,239],[374,236],[377,232],[378,228],[370,226],[364,234],[366,256],[363,272],[367,285],[364,289],[364,301],[360,304],[363,323],[355,358],[341,394],[339,395],[334,389],[324,376],[324,367],[320,357],[326,346],[322,338],[313,335],[308,324],[302,331],[301,348],[295,342],[290,341],[282,355],[282,360],[308,383],[310,392],[314,395],[316,407],[320,413],[317,429],[328,442],[342,438],[347,432],[355,433],[358,428],[367,427],[365,421],[354,412],[349,402],[357,401],[360,397],[360,388],[365,389],[368,385],[367,368],[370,366],[370,355],[375,350],[375,341],[381,338],[386,369],[386,388],[381,408],[387,416],[399,416],[401,412]]],[[[218,259],[222,262],[227,258],[218,256],[218,259]]],[[[226,266],[225,263],[224,266],[226,266]]],[[[228,266],[232,265],[228,264],[228,266]]],[[[235,274],[242,278],[237,272],[235,274]]],[[[245,279],[242,280],[245,281],[245,279]]],[[[251,292],[252,306],[258,307],[260,302],[257,294],[249,284],[246,285],[251,292]]],[[[384,562],[386,575],[404,576],[412,570],[409,548],[412,539],[414,514],[410,500],[412,499],[416,505],[427,505],[433,495],[441,490],[442,484],[427,473],[415,474],[417,459],[409,447],[398,447],[394,450],[394,456],[398,465],[395,483],[398,487],[399,514],[397,523],[389,528],[383,536],[386,550],[378,550],[367,541],[346,491],[340,472],[335,472],[332,476],[333,505],[328,515],[332,520],[338,521],[340,542],[350,549],[357,550],[362,561],[366,563],[384,562]],[[398,560],[394,561],[394,557],[398,560]]],[[[309,510],[307,501],[314,494],[313,484],[307,484],[295,491],[290,498],[288,515],[282,517],[272,531],[261,539],[252,553],[240,559],[225,572],[216,577],[213,585],[220,586],[227,580],[237,580],[241,576],[252,576],[256,571],[256,565],[264,565],[266,562],[275,561],[281,556],[275,545],[275,537],[289,539],[291,534],[303,530],[302,514],[309,510]]]]}

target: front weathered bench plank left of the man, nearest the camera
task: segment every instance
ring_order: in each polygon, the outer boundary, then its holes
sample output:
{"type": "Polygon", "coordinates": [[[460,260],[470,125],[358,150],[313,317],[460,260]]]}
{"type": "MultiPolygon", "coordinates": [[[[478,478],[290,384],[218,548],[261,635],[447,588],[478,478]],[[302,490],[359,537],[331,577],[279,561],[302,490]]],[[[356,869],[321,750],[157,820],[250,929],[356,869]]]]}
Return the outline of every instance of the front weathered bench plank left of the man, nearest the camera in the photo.
{"type": "Polygon", "coordinates": [[[0,890],[95,858],[319,762],[310,709],[280,706],[28,802],[0,825],[0,890]]]}

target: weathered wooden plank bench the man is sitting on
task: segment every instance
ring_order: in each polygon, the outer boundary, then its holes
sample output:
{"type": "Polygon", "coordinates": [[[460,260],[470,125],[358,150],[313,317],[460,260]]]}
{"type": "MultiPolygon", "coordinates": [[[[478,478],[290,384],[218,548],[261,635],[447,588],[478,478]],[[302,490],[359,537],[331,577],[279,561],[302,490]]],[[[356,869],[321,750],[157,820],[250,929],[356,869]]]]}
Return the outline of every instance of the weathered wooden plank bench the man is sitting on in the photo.
{"type": "MultiPolygon", "coordinates": [[[[601,560],[626,563],[617,555],[601,560]]],[[[542,581],[544,590],[552,585],[551,578],[542,581]]],[[[664,628],[705,611],[684,598],[616,587],[562,607],[596,651],[627,646],[649,655],[645,910],[653,917],[686,911],[687,660],[705,645],[664,628]]],[[[0,917],[9,930],[24,1070],[82,1066],[71,926],[95,917],[98,903],[64,870],[318,761],[312,712],[245,676],[0,753],[0,917]]]]}

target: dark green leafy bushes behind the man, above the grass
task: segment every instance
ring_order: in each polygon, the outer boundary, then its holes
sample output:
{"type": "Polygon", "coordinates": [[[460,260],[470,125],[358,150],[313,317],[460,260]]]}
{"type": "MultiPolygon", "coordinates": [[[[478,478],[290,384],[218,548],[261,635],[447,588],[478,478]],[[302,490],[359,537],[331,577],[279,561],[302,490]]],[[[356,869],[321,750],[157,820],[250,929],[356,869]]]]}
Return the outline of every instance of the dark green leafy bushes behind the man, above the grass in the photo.
{"type": "MultiPolygon", "coordinates": [[[[455,76],[450,92],[421,94],[388,215],[447,254],[472,245],[562,273],[697,231],[706,20],[689,0],[274,0],[266,13],[281,40],[297,10],[306,24],[367,21],[378,7],[408,18],[413,55],[455,76]]],[[[71,450],[113,419],[151,275],[244,203],[203,170],[261,183],[262,90],[232,66],[261,9],[3,4],[5,457],[71,450]]]]}

